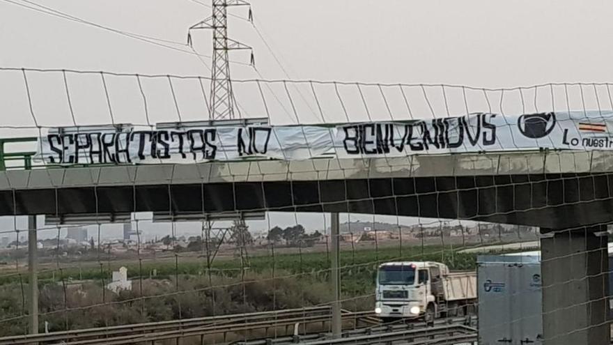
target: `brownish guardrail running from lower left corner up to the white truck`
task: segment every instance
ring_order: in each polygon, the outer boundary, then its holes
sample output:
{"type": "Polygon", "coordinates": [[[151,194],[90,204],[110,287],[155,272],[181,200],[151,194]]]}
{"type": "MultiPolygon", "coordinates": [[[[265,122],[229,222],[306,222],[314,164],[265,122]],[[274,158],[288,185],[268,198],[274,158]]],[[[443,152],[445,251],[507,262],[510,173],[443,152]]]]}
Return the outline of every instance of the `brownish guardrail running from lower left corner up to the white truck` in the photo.
{"type": "MultiPolygon", "coordinates": [[[[211,316],[198,319],[118,325],[106,328],[70,330],[40,335],[22,335],[0,338],[0,345],[8,344],[155,344],[166,339],[220,335],[224,342],[228,334],[274,329],[276,334],[291,334],[295,327],[306,329],[308,325],[320,324],[323,328],[331,318],[329,307],[285,309],[272,312],[211,316]],[[281,328],[281,331],[279,331],[281,328]]],[[[343,311],[343,321],[378,323],[371,312],[343,311]]]]}

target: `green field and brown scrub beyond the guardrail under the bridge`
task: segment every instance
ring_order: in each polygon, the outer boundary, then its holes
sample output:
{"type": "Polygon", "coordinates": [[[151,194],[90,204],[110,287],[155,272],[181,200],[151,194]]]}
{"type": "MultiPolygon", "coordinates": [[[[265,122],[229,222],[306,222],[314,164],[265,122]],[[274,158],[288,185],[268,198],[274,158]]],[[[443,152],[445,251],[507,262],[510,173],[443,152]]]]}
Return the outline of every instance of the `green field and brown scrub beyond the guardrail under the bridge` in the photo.
{"type": "MultiPolygon", "coordinates": [[[[206,267],[194,254],[148,259],[61,263],[61,270],[45,267],[40,273],[42,321],[51,330],[100,327],[146,321],[256,312],[327,304],[327,252],[284,254],[255,252],[248,265],[222,256],[206,267]],[[102,289],[112,270],[126,266],[132,291],[102,289]],[[155,270],[156,275],[152,275],[155,270]]],[[[383,247],[341,252],[343,307],[370,309],[376,268],[385,261],[442,261],[453,270],[472,270],[476,254],[443,250],[442,246],[383,247]]],[[[3,275],[0,284],[0,335],[20,334],[26,327],[26,271],[3,275]],[[17,319],[15,319],[17,318],[17,319]]],[[[42,324],[42,322],[41,322],[42,324]]]]}

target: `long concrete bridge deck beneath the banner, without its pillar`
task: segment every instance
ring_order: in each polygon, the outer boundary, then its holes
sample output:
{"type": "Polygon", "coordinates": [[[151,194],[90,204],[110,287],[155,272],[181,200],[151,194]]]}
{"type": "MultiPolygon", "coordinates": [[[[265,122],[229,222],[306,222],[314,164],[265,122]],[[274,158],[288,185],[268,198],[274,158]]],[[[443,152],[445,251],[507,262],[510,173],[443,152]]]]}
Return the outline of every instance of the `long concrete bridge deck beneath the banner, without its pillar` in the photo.
{"type": "Polygon", "coordinates": [[[613,154],[538,151],[0,171],[0,215],[265,210],[613,222],[613,154]]]}

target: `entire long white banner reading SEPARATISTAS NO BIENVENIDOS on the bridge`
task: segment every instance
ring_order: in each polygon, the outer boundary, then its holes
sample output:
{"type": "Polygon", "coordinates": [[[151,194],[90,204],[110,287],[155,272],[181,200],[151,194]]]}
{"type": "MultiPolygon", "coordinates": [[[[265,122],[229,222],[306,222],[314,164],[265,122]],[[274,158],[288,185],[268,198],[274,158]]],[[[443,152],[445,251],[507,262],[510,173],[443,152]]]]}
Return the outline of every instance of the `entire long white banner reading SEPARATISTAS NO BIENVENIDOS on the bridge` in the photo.
{"type": "Polygon", "coordinates": [[[39,138],[47,164],[377,158],[493,151],[612,150],[613,112],[470,114],[408,122],[79,130],[39,138]]]}

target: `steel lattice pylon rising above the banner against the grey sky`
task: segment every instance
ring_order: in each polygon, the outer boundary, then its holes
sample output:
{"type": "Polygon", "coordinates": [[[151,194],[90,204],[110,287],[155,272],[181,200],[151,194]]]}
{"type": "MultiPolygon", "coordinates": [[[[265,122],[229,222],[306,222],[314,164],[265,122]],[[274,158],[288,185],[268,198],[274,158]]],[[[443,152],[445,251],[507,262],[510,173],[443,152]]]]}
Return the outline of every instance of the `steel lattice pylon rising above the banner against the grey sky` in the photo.
{"type": "MultiPolygon", "coordinates": [[[[192,29],[212,29],[213,52],[211,68],[210,89],[210,119],[235,118],[236,100],[232,90],[230,78],[230,60],[228,52],[231,50],[251,50],[251,65],[254,64],[254,54],[251,47],[236,40],[228,38],[228,7],[249,6],[249,20],[251,21],[251,4],[244,0],[212,0],[212,16],[191,26],[192,29]]],[[[187,43],[192,44],[192,37],[187,35],[187,43]]],[[[238,112],[240,118],[240,112],[238,112]]]]}

